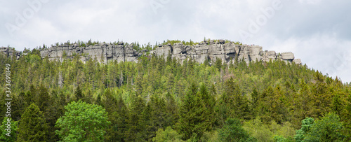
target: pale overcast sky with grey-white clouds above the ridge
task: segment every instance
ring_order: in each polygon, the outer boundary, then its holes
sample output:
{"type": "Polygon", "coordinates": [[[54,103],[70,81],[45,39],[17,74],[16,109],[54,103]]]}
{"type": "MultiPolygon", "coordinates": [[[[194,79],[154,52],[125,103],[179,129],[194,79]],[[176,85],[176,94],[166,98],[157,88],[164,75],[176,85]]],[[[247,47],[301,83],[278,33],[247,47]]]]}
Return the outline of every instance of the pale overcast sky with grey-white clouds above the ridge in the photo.
{"type": "Polygon", "coordinates": [[[0,0],[0,46],[65,41],[229,39],[293,52],[310,68],[351,81],[349,0],[0,0]]]}

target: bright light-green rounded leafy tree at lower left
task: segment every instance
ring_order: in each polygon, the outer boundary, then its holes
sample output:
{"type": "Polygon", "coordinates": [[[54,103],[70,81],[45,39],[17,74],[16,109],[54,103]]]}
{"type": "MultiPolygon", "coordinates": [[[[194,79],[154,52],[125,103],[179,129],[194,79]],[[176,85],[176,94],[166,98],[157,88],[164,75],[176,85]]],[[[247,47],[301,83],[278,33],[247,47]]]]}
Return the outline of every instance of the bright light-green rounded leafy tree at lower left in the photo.
{"type": "Polygon", "coordinates": [[[55,133],[62,141],[103,141],[109,127],[107,113],[101,106],[72,101],[65,106],[65,115],[56,122],[55,133]]]}

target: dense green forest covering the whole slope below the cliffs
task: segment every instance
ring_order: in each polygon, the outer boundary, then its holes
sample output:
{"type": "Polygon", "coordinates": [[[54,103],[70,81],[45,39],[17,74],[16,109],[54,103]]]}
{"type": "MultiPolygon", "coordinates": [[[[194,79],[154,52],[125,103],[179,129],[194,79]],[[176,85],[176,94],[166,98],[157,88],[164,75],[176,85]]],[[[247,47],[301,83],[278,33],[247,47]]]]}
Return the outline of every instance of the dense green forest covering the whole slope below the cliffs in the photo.
{"type": "Polygon", "coordinates": [[[307,65],[26,52],[0,55],[0,141],[351,141],[351,85],[307,65]]]}

